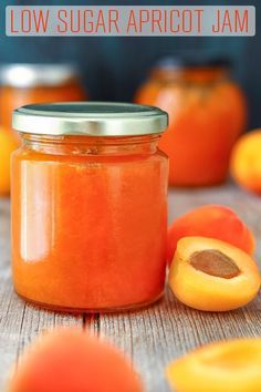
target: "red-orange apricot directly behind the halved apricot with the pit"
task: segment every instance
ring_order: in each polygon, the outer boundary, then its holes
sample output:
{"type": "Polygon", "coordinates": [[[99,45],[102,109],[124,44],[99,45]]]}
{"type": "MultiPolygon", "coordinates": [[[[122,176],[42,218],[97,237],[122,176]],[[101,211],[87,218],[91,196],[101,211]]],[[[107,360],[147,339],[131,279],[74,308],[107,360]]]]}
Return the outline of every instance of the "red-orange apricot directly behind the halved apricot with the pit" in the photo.
{"type": "Polygon", "coordinates": [[[206,205],[178,217],[168,229],[168,262],[171,262],[177,243],[182,237],[202,236],[229,243],[252,255],[253,234],[229,207],[206,205]]]}

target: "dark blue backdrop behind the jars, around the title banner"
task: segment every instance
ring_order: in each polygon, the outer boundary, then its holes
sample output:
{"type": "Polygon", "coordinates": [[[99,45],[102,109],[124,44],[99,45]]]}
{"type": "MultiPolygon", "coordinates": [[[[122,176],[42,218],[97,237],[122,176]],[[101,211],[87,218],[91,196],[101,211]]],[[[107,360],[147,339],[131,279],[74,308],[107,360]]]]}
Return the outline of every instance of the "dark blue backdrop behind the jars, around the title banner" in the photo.
{"type": "Polygon", "coordinates": [[[76,61],[94,100],[130,101],[156,56],[185,49],[228,55],[233,78],[249,99],[250,126],[261,126],[261,0],[255,1],[4,1],[1,0],[0,62],[76,61]],[[257,35],[250,38],[12,38],[4,35],[6,6],[255,6],[257,35]]]}

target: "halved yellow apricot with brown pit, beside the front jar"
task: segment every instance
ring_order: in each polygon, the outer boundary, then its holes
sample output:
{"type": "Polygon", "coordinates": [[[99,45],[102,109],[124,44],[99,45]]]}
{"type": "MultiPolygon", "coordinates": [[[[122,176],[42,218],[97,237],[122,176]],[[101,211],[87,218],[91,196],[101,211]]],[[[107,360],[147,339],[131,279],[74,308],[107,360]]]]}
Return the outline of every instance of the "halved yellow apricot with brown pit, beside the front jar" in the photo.
{"type": "Polygon", "coordinates": [[[170,266],[169,286],[185,305],[226,311],[250,302],[260,288],[260,272],[244,251],[218,239],[185,237],[170,266]]]}

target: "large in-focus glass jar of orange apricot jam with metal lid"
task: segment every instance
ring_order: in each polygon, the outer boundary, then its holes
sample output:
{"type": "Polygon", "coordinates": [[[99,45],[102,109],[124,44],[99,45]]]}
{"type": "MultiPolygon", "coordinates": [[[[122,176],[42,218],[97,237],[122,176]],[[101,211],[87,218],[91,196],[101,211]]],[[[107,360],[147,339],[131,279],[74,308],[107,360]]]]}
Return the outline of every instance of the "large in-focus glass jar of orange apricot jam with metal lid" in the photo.
{"type": "Polygon", "coordinates": [[[116,311],[164,292],[168,159],[159,109],[55,103],[14,111],[12,274],[25,300],[116,311]]]}

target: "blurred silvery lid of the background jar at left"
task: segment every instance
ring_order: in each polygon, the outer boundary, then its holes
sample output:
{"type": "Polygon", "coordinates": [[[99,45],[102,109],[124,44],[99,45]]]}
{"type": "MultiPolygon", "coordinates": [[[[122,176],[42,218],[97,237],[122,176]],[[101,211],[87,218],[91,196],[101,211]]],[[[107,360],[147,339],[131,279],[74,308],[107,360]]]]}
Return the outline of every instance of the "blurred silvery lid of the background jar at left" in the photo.
{"type": "Polygon", "coordinates": [[[73,64],[6,64],[0,66],[0,84],[13,87],[63,85],[79,76],[73,64]]]}

